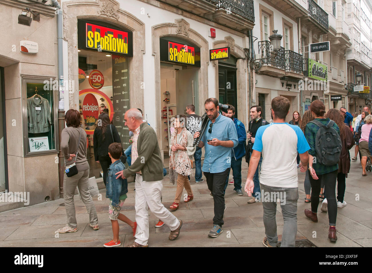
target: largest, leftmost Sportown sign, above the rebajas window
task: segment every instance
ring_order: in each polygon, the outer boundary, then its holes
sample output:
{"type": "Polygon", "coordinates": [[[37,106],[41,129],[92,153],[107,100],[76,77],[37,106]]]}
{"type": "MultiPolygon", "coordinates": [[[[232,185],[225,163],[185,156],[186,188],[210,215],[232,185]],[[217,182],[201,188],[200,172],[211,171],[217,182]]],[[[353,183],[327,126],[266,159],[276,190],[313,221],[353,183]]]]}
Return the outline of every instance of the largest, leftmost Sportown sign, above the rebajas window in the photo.
{"type": "Polygon", "coordinates": [[[133,33],[78,20],[78,47],[133,56],[133,33]]]}

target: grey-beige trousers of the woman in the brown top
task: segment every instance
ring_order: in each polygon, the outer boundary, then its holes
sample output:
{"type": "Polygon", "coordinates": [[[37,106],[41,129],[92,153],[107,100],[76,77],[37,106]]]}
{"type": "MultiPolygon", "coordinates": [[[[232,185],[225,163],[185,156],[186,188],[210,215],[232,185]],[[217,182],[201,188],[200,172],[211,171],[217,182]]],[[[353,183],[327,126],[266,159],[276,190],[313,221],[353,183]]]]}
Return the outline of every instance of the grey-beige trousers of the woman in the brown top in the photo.
{"type": "Polygon", "coordinates": [[[87,208],[89,214],[89,222],[91,225],[95,226],[98,223],[96,207],[94,206],[92,196],[88,189],[88,178],[89,169],[85,171],[79,171],[78,174],[67,177],[64,174],[63,177],[63,197],[65,200],[65,209],[67,214],[67,223],[71,228],[76,228],[76,213],[74,204],[74,194],[76,186],[79,189],[81,200],[83,200],[85,207],[87,208]]]}

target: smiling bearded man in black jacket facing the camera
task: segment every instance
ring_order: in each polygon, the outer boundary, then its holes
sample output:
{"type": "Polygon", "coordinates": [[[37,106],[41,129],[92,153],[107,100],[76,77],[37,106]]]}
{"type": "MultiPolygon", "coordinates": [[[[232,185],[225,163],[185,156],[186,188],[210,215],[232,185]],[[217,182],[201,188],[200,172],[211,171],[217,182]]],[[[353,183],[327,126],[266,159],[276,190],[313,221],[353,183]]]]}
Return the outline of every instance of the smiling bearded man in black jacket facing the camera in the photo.
{"type": "MultiPolygon", "coordinates": [[[[248,133],[247,133],[247,140],[248,140],[247,150],[250,150],[250,156],[252,155],[252,147],[254,144],[254,139],[255,139],[258,128],[269,124],[269,122],[267,122],[261,117],[261,113],[262,113],[262,108],[259,105],[253,105],[250,109],[251,121],[248,124],[248,133]]],[[[262,156],[260,157],[259,168],[257,167],[256,173],[254,174],[254,177],[253,177],[254,189],[253,189],[252,198],[248,200],[248,204],[256,202],[256,197],[258,195],[257,193],[261,192],[260,180],[258,178],[259,169],[261,169],[261,163],[262,163],[262,156]]]]}

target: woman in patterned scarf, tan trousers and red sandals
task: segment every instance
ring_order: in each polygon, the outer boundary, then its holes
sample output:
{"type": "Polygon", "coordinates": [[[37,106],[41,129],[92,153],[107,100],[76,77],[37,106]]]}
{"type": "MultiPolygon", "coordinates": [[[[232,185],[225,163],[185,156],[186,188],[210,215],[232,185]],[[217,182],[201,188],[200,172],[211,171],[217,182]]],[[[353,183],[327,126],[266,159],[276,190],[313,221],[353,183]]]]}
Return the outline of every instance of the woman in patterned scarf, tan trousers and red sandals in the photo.
{"type": "Polygon", "coordinates": [[[186,129],[186,120],[186,115],[177,115],[173,125],[176,130],[171,135],[169,181],[173,185],[177,181],[176,197],[173,204],[169,207],[171,210],[179,208],[183,187],[187,191],[187,198],[184,201],[188,202],[194,198],[187,175],[192,174],[192,156],[196,147],[192,146],[194,139],[192,134],[186,129]]]}

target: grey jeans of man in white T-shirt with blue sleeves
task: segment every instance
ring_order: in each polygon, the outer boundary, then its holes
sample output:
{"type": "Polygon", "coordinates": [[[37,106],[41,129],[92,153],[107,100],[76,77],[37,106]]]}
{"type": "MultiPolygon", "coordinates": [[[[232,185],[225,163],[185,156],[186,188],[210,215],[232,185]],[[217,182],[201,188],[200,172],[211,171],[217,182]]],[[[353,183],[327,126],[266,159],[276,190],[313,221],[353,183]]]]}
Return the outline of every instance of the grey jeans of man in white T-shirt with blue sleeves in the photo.
{"type": "MultiPolygon", "coordinates": [[[[263,195],[261,196],[263,206],[263,224],[267,242],[276,246],[278,243],[278,234],[276,232],[276,198],[272,193],[278,193],[280,196],[280,207],[284,220],[282,244],[281,247],[295,247],[297,233],[297,200],[298,188],[278,188],[261,185],[263,195]],[[265,193],[270,193],[269,198],[265,198],[265,193]]],[[[278,196],[278,198],[279,198],[278,196]]]]}

